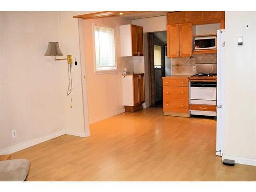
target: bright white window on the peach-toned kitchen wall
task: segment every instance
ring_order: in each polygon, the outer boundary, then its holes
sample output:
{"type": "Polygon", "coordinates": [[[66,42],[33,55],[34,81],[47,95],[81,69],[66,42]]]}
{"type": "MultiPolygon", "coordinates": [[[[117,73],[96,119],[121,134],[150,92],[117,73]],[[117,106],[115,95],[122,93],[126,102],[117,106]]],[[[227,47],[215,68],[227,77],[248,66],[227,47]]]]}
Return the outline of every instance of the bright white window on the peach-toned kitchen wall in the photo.
{"type": "Polygon", "coordinates": [[[116,72],[115,29],[94,26],[95,73],[116,72]]]}

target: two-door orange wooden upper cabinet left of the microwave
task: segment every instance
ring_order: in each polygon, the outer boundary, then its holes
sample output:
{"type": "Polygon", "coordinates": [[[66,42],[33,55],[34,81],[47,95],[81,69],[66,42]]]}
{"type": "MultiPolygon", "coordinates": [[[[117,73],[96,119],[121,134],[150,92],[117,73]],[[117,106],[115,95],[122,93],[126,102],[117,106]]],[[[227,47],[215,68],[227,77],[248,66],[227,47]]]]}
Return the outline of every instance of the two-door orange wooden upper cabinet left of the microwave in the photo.
{"type": "Polygon", "coordinates": [[[192,24],[167,25],[167,57],[189,57],[192,51],[192,24]]]}

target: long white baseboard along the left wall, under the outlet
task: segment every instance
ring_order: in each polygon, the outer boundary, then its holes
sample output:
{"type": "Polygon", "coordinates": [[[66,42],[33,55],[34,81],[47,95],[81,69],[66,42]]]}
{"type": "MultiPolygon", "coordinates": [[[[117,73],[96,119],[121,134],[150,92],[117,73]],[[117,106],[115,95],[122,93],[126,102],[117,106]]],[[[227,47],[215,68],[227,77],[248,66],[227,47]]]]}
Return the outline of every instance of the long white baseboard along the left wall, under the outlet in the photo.
{"type": "Polygon", "coordinates": [[[19,144],[16,144],[14,146],[4,148],[3,150],[0,150],[0,155],[12,154],[14,152],[24,150],[25,148],[28,148],[30,146],[48,141],[50,139],[53,139],[55,137],[59,137],[61,135],[65,135],[65,134],[66,134],[65,129],[61,129],[61,130],[58,130],[56,132],[53,132],[53,133],[50,133],[50,134],[47,134],[47,135],[44,135],[44,136],[41,136],[41,137],[38,137],[38,138],[35,138],[35,139],[31,139],[31,140],[26,141],[26,142],[19,143],[19,144]]]}

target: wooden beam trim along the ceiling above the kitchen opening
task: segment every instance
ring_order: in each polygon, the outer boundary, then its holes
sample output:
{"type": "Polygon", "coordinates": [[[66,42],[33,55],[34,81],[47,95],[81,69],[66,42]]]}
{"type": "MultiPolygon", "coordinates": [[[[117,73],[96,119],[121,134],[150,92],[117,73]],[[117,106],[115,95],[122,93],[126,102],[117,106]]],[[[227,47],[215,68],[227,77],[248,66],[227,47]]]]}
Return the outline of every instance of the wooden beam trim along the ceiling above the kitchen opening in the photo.
{"type": "Polygon", "coordinates": [[[94,19],[94,18],[103,18],[103,17],[114,17],[114,16],[124,16],[138,13],[146,13],[151,11],[101,11],[95,13],[88,13],[83,15],[75,15],[73,18],[82,18],[82,19],[94,19]],[[122,13],[120,15],[119,13],[122,13]]]}

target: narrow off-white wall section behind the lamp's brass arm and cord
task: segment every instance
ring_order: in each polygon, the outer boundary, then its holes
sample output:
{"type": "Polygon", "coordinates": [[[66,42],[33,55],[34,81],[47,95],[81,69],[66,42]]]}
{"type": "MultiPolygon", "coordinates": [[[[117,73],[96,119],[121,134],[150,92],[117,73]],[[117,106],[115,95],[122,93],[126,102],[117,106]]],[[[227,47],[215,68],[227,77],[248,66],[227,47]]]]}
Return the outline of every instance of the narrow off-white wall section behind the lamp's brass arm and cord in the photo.
{"type": "MultiPolygon", "coordinates": [[[[82,80],[81,78],[81,63],[80,59],[80,47],[79,47],[79,31],[78,31],[78,19],[73,18],[74,15],[86,14],[83,12],[76,11],[60,11],[59,13],[59,46],[63,55],[73,55],[73,62],[77,58],[77,66],[72,66],[72,108],[70,108],[70,96],[67,96],[68,89],[68,65],[67,61],[58,61],[63,65],[61,68],[62,92],[64,96],[65,105],[65,128],[71,133],[82,134],[84,130],[89,134],[88,122],[84,122],[84,114],[87,116],[88,111],[83,113],[82,103],[82,80]],[[85,127],[84,127],[85,126],[85,127]]],[[[83,44],[83,42],[81,42],[83,44]]],[[[83,53],[82,53],[83,54],[83,53]]],[[[61,58],[61,57],[60,57],[61,58]]],[[[59,63],[59,64],[60,64],[59,63]]],[[[85,73],[85,72],[84,72],[85,73]]],[[[86,88],[85,88],[86,89],[86,88]]]]}

